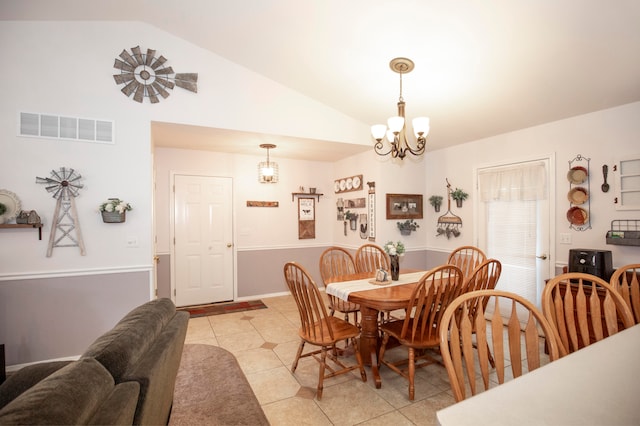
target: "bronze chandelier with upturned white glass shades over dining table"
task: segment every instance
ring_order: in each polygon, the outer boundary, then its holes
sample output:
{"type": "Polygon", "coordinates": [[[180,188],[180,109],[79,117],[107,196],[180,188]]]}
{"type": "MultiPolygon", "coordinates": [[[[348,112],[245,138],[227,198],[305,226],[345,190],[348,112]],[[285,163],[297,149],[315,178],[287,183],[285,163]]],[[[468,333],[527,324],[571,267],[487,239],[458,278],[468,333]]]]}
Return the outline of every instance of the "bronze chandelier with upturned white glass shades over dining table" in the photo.
{"type": "Polygon", "coordinates": [[[407,152],[413,155],[424,154],[427,143],[427,135],[429,134],[429,118],[416,117],[412,120],[413,133],[416,137],[416,146],[413,148],[406,135],[406,125],[404,118],[404,99],[402,98],[402,74],[407,74],[413,70],[414,63],[411,59],[395,58],[389,62],[392,71],[400,74],[400,97],[398,99],[398,115],[390,117],[387,120],[387,126],[384,124],[376,124],[371,126],[371,135],[376,140],[373,149],[378,155],[389,155],[393,158],[401,160],[407,155],[407,152]],[[383,140],[386,136],[389,142],[389,150],[385,152],[385,144],[383,140]]]}

